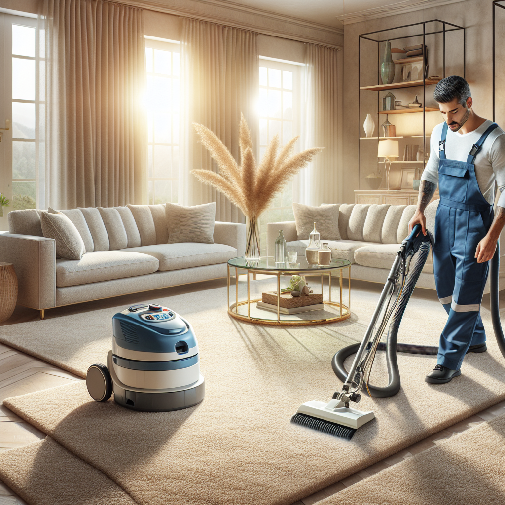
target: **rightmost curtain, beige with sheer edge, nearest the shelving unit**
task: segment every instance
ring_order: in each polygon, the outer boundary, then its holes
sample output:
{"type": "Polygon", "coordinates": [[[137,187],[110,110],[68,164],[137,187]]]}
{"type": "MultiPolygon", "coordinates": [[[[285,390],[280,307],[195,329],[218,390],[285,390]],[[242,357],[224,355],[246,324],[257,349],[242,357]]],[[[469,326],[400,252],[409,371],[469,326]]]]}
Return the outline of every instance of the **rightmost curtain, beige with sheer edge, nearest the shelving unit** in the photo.
{"type": "Polygon", "coordinates": [[[293,201],[308,205],[337,203],[340,111],[337,50],[306,45],[302,139],[304,148],[324,147],[294,179],[293,201]]]}

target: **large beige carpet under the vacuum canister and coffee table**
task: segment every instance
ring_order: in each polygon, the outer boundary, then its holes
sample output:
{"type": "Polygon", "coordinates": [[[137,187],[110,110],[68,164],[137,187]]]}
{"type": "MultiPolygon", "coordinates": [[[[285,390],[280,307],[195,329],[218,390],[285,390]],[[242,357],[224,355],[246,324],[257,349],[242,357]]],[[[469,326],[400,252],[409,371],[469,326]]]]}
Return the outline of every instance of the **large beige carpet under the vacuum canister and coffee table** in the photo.
{"type": "MultiPolygon", "coordinates": [[[[5,405],[139,503],[271,505],[292,503],[505,398],[505,368],[491,341],[489,352],[469,355],[463,375],[443,386],[423,380],[434,357],[399,355],[402,389],[393,398],[364,396],[360,408],[373,410],[377,419],[351,442],[291,425],[301,402],[330,399],[339,387],[331,357],[361,339],[378,292],[353,290],[354,315],[343,323],[273,328],[230,319],[226,287],[206,284],[206,291],[185,287],[164,296],[136,295],[119,307],[109,300],[94,302],[87,312],[59,309],[44,321],[4,326],[1,338],[83,375],[91,363],[105,361],[112,315],[133,302],[157,300],[195,328],[207,381],[199,406],[136,413],[112,401],[91,401],[84,383],[18,396],[5,405]]],[[[271,287],[256,284],[259,290],[271,287]]],[[[445,317],[434,293],[417,296],[399,340],[436,344],[445,317]]],[[[489,330],[485,310],[483,319],[489,330]]],[[[378,360],[376,376],[384,375],[381,368],[378,360]]],[[[5,471],[3,465],[0,478],[5,471]]]]}

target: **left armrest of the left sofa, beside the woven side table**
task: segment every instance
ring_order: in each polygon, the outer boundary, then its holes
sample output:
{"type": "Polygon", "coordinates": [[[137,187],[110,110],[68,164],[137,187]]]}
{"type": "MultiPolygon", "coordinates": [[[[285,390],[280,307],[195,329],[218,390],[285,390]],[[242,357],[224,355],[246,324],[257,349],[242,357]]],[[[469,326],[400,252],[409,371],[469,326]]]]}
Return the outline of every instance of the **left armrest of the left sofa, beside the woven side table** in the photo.
{"type": "Polygon", "coordinates": [[[56,242],[34,235],[0,234],[0,261],[12,263],[18,278],[18,304],[56,307],[56,242]]]}

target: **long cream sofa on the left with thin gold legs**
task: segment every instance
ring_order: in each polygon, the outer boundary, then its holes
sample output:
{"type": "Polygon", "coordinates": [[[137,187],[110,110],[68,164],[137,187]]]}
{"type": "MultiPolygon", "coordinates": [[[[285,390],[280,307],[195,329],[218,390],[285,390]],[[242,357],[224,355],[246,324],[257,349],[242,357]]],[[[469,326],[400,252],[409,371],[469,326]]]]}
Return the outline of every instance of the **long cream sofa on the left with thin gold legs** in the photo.
{"type": "Polygon", "coordinates": [[[79,261],[57,259],[41,212],[11,211],[9,233],[0,234],[0,261],[15,267],[18,304],[41,317],[54,307],[225,277],[227,261],[244,254],[245,225],[216,222],[214,244],[169,244],[165,206],[146,205],[61,211],[86,253],[79,261]]]}

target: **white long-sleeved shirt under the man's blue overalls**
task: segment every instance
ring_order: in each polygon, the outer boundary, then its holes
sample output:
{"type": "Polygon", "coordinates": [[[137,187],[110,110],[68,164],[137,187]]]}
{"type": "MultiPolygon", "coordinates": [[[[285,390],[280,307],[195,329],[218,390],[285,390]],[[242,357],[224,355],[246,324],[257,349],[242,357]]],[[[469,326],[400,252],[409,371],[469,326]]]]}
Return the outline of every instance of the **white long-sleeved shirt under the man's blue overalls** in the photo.
{"type": "MultiPolygon", "coordinates": [[[[438,142],[442,136],[440,123],[433,128],[430,138],[430,158],[424,169],[421,180],[438,184],[438,142]]],[[[447,128],[445,140],[445,157],[447,160],[457,160],[466,162],[468,153],[472,149],[482,134],[493,122],[488,119],[484,121],[476,130],[469,133],[453,132],[447,128]]],[[[494,183],[501,192],[497,205],[505,207],[505,134],[498,127],[495,128],[484,140],[474,162],[475,176],[484,198],[489,204],[494,204],[494,183]]]]}

